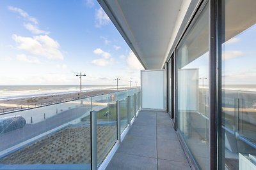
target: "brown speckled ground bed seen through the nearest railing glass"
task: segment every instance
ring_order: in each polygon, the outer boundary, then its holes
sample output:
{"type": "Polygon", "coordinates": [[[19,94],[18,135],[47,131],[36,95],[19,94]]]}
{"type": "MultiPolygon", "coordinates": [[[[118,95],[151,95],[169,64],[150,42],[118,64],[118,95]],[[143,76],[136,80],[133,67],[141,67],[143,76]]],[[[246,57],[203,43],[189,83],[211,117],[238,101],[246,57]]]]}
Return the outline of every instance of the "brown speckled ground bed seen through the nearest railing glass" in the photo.
{"type": "MultiPolygon", "coordinates": [[[[114,125],[98,125],[98,161],[116,141],[114,125]]],[[[0,159],[0,164],[90,164],[90,127],[66,127],[0,159]]]]}

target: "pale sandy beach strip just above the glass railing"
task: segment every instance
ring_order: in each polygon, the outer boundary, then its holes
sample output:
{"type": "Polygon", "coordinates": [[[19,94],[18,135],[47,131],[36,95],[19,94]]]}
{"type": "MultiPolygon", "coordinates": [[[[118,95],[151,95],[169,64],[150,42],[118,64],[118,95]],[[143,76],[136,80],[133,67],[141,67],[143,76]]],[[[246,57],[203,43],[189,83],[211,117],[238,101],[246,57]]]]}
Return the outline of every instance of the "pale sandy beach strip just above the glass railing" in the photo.
{"type": "Polygon", "coordinates": [[[24,97],[21,99],[6,99],[6,100],[0,101],[0,113],[4,111],[12,111],[12,108],[15,108],[15,110],[20,108],[28,108],[28,107],[31,108],[35,106],[51,104],[51,103],[54,103],[54,101],[64,101],[64,100],[70,100],[72,98],[78,99],[78,97],[81,98],[81,97],[88,97],[88,96],[96,96],[100,94],[108,94],[115,91],[116,89],[104,89],[104,90],[93,90],[90,92],[83,92],[82,96],[79,96],[78,93],[71,93],[71,94],[69,93],[69,94],[39,96],[39,97],[24,97]]]}

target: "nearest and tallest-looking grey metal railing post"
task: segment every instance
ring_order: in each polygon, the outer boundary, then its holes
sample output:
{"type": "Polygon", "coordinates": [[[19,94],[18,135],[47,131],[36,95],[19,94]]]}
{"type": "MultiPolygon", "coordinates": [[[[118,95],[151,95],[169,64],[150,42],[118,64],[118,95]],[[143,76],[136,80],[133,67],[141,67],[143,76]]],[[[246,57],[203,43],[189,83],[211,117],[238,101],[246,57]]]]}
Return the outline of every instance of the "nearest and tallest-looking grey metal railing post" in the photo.
{"type": "Polygon", "coordinates": [[[98,169],[97,160],[97,111],[91,111],[91,169],[98,169]]]}

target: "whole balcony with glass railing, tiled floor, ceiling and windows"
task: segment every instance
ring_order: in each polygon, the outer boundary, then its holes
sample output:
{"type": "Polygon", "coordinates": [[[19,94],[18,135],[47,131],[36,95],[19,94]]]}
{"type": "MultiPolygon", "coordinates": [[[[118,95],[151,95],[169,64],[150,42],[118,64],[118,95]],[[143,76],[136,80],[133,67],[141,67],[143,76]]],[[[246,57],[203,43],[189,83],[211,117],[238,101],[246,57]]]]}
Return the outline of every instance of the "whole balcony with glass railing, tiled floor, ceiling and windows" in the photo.
{"type": "Polygon", "coordinates": [[[98,0],[141,87],[0,114],[0,169],[256,169],[256,1],[98,0]]]}

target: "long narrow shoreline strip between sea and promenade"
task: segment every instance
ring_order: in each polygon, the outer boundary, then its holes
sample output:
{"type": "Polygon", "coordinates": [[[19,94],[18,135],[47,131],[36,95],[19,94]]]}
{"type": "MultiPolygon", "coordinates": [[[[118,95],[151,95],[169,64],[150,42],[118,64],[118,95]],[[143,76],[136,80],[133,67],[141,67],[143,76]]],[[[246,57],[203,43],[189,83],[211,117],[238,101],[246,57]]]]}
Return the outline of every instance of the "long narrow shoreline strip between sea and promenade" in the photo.
{"type": "MultiPolygon", "coordinates": [[[[127,90],[129,88],[122,88],[119,90],[127,90]]],[[[16,97],[14,99],[1,99],[0,100],[0,110],[7,110],[10,108],[19,108],[19,107],[34,107],[36,105],[42,105],[44,103],[53,103],[54,101],[65,101],[72,98],[82,98],[89,96],[97,96],[102,94],[109,94],[111,92],[116,92],[116,89],[97,89],[97,90],[88,90],[82,92],[80,95],[78,92],[63,92],[61,94],[42,94],[40,96],[24,96],[16,97]]],[[[1,111],[0,111],[1,112],[1,111]]]]}

